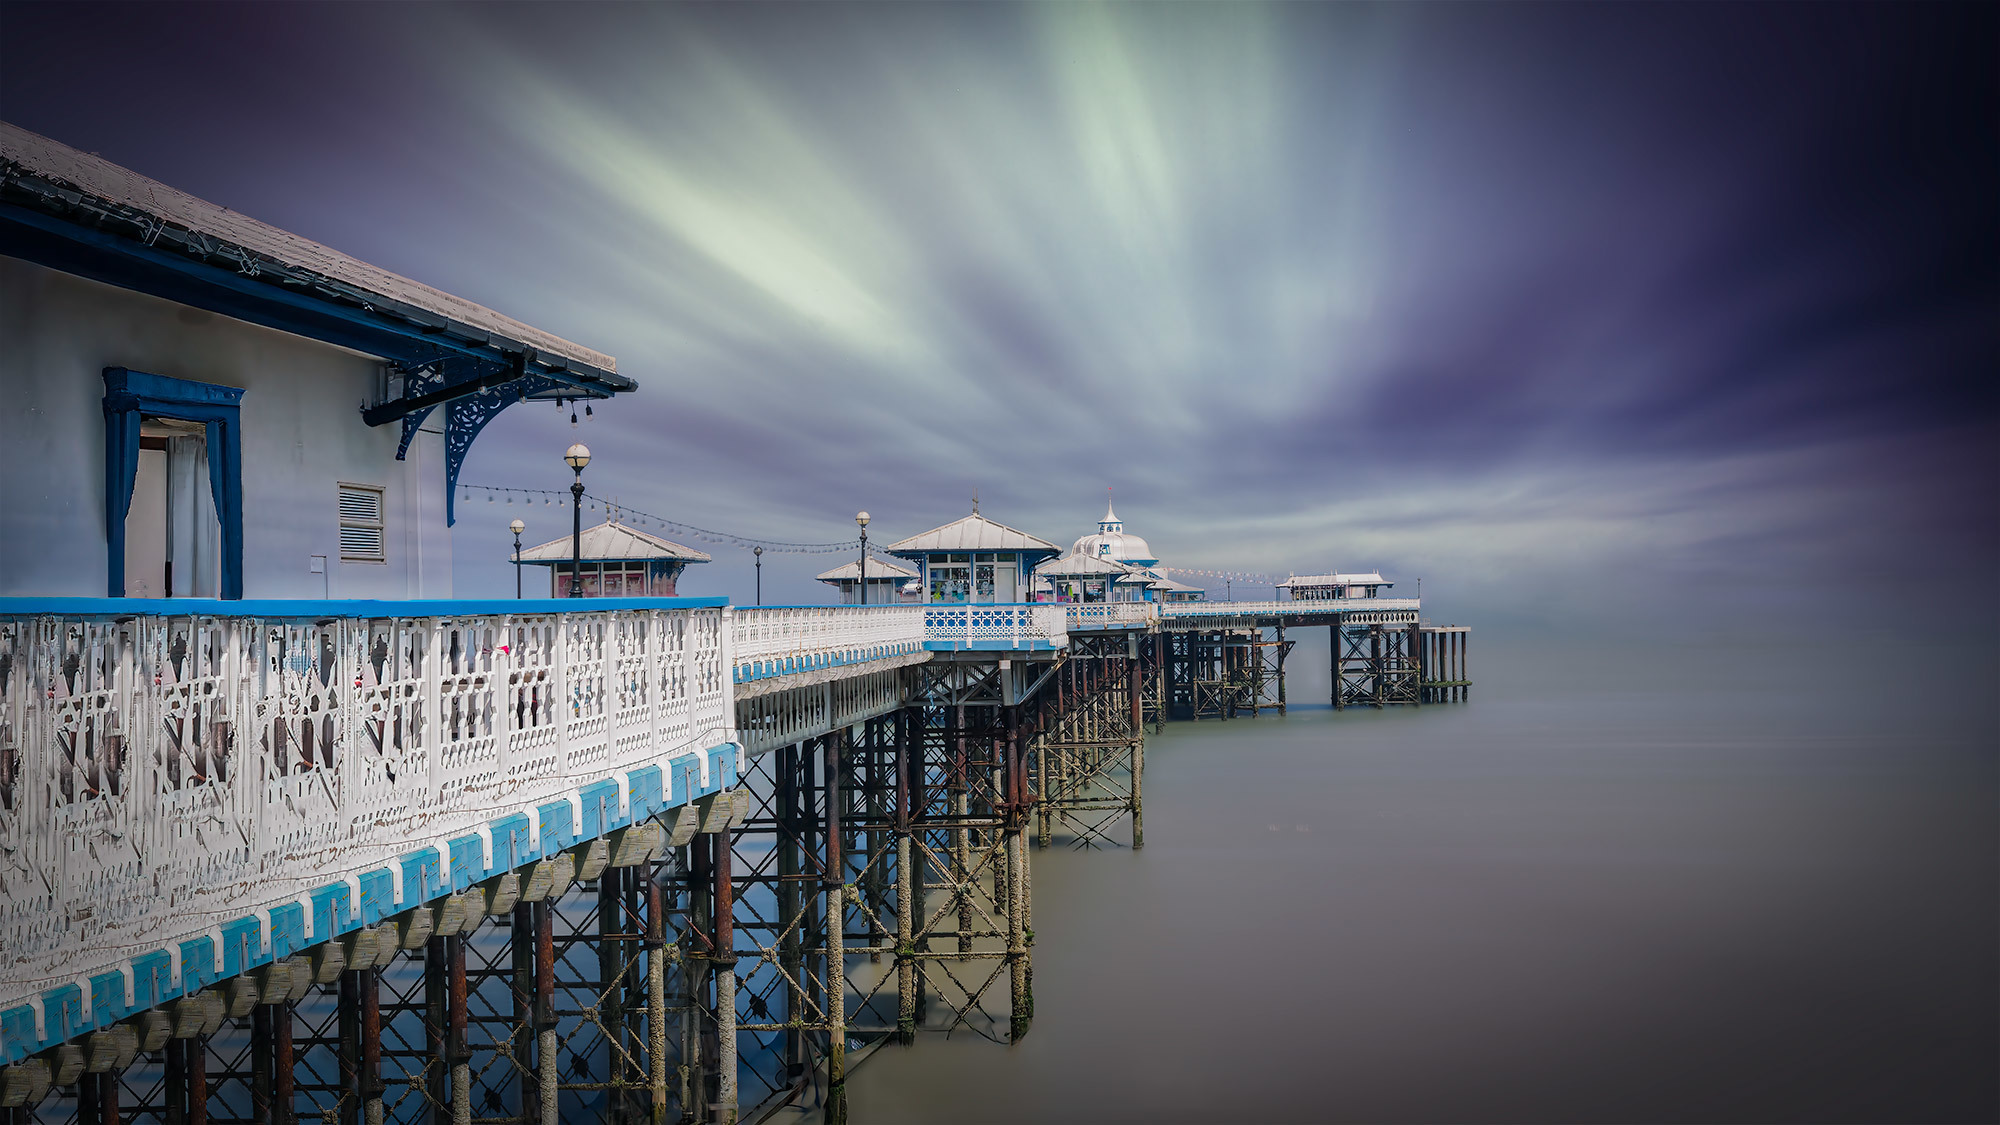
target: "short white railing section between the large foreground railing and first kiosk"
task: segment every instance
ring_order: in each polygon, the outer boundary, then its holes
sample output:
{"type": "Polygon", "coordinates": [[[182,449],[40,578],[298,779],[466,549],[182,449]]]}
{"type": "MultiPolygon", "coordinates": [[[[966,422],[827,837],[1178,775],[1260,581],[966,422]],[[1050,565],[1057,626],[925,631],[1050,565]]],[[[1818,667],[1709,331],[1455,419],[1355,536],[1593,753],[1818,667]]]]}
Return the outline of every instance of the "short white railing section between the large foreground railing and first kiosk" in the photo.
{"type": "Polygon", "coordinates": [[[924,651],[920,605],[732,607],[736,683],[924,651]]]}

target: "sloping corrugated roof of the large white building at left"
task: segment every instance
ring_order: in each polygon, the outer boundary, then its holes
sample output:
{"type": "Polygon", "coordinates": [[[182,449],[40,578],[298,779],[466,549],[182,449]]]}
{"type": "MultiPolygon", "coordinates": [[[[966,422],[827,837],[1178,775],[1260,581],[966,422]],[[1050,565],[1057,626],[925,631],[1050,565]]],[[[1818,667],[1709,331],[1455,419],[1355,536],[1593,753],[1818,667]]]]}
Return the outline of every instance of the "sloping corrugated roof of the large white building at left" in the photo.
{"type": "MultiPolygon", "coordinates": [[[[472,342],[492,342],[490,336],[502,336],[510,342],[534,348],[544,362],[560,356],[560,360],[550,366],[560,368],[564,366],[562,360],[566,360],[578,368],[608,374],[608,382],[616,390],[630,390],[636,386],[630,378],[616,374],[618,360],[604,352],[522,324],[512,316],[504,316],[462,296],[452,296],[424,282],[410,280],[380,266],[370,266],[360,258],[352,258],[310,238],[280,230],[268,222],[258,222],[226,206],[190,196],[188,192],[140,176],[130,168],[112,164],[102,156],[78,152],[76,148],[54,142],[36,132],[0,122],[0,170],[6,170],[4,166],[8,164],[16,166],[12,168],[16,176],[26,172],[28,176],[46,180],[56,188],[66,188],[82,196],[92,196],[120,208],[142,212],[156,220],[162,228],[182,228],[202,238],[228,242],[242,248],[248,256],[262,258],[272,266],[308,270],[332,282],[352,286],[354,290],[362,290],[362,294],[372,296],[374,300],[370,304],[382,310],[396,314],[416,310],[418,314],[414,320],[418,322],[442,318],[446,324],[438,324],[438,328],[448,332],[454,324],[468,328],[470,332],[454,334],[462,334],[472,342]],[[480,340],[480,336],[488,338],[480,340]]],[[[64,200],[68,204],[82,202],[80,198],[70,196],[64,196],[64,200]]],[[[154,238],[158,238],[158,234],[160,230],[154,230],[154,238]]]]}

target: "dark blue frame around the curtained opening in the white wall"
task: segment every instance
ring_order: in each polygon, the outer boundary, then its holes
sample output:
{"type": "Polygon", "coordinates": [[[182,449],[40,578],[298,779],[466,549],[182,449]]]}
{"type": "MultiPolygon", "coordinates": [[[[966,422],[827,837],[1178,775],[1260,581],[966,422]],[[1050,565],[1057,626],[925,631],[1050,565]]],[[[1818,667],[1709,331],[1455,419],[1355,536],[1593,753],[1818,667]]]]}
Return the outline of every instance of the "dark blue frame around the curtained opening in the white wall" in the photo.
{"type": "Polygon", "coordinates": [[[216,386],[122,366],[104,368],[104,540],[106,587],[124,597],[124,522],[138,482],[140,422],[178,418],[208,430],[208,488],[222,524],[222,597],[244,597],[244,488],[240,386],[216,386]]]}

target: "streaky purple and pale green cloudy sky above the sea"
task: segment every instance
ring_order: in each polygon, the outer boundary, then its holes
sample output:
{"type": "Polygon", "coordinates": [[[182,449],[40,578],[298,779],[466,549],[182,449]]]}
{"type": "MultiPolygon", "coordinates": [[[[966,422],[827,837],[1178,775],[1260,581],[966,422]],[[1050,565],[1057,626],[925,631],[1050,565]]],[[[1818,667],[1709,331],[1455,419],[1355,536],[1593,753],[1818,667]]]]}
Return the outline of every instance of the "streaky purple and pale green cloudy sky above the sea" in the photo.
{"type": "MultiPolygon", "coordinates": [[[[1838,637],[1896,595],[1992,639],[1996,32],[1952,4],[0,6],[0,116],[640,382],[574,430],[508,410],[466,482],[562,488],[582,438],[592,492],[736,534],[868,508],[884,542],[976,492],[1064,544],[1114,488],[1166,565],[1382,569],[1440,619],[1838,637]]],[[[460,506],[460,593],[512,585],[514,514],[460,506]]],[[[696,546],[684,593],[748,601],[748,554],[696,546]]],[[[766,554],[766,601],[824,601],[832,565],[766,554]]]]}

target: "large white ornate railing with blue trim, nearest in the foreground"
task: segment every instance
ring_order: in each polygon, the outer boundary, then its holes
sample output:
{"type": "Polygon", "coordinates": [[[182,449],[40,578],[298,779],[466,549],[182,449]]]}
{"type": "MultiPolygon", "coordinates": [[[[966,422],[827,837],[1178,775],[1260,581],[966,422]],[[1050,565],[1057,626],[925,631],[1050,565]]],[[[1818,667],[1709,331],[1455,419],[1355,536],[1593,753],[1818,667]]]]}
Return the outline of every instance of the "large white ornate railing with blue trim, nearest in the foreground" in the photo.
{"type": "Polygon", "coordinates": [[[0,1063],[736,781],[722,599],[0,599],[0,1063]]]}

